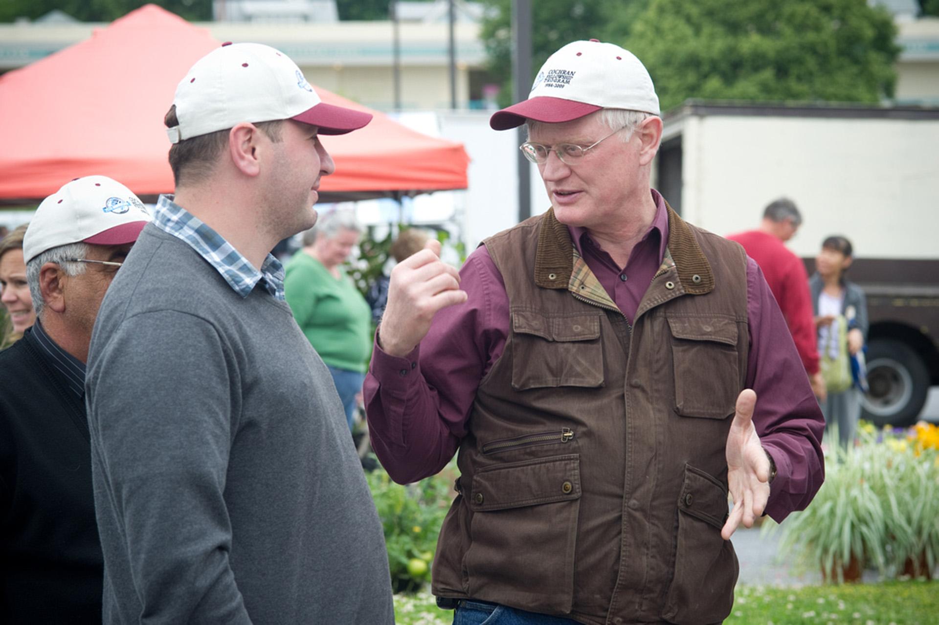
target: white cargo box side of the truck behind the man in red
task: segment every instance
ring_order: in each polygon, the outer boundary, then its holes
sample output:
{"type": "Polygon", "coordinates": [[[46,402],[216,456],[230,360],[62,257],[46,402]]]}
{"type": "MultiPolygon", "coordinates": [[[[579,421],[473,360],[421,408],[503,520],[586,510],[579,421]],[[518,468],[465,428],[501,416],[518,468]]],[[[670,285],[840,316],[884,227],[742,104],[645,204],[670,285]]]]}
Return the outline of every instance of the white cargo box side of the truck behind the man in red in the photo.
{"type": "Polygon", "coordinates": [[[682,213],[729,235],[786,196],[805,219],[789,243],[796,254],[813,256],[824,236],[842,233],[865,258],[935,258],[936,145],[939,119],[693,115],[682,213]]]}

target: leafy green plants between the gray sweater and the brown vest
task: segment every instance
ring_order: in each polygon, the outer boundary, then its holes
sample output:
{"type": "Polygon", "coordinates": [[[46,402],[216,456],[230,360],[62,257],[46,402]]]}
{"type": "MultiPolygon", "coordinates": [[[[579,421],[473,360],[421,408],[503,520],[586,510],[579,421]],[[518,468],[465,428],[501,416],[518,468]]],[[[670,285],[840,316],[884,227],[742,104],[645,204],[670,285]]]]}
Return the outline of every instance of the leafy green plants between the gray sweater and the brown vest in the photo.
{"type": "Polygon", "coordinates": [[[412,592],[430,580],[440,526],[453,501],[454,470],[455,463],[407,486],[394,483],[380,468],[366,474],[385,531],[395,592],[412,592]]]}

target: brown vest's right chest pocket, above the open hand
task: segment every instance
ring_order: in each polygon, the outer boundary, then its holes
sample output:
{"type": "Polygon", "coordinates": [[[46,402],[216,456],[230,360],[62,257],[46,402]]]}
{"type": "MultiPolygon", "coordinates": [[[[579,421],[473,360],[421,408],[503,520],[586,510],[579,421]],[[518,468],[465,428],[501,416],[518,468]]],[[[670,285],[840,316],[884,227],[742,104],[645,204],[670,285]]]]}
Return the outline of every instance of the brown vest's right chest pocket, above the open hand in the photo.
{"type": "Polygon", "coordinates": [[[669,317],[675,412],[726,419],[740,393],[737,324],[722,317],[669,317]]]}

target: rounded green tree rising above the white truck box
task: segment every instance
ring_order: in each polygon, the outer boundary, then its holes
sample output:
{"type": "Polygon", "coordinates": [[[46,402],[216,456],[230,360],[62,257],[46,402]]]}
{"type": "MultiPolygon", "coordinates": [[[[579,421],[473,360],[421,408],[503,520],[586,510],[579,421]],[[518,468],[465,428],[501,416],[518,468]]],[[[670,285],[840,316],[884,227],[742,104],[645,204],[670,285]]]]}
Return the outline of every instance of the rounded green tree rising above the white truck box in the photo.
{"type": "Polygon", "coordinates": [[[688,98],[876,102],[893,95],[895,37],[890,14],[859,0],[652,0],[621,43],[664,111],[688,98]]]}

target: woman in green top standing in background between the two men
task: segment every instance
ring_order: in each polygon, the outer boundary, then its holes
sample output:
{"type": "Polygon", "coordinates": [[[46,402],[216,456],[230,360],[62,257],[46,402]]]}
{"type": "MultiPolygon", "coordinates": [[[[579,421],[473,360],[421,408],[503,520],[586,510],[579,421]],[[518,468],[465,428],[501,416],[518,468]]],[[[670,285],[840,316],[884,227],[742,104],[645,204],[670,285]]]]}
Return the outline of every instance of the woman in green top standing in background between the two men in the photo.
{"type": "Polygon", "coordinates": [[[303,233],[303,247],[287,262],[284,282],[297,324],[332,374],[349,430],[372,351],[371,308],[342,268],[360,236],[362,226],[351,211],[321,215],[303,233]]]}

